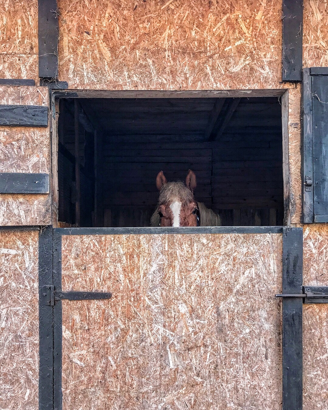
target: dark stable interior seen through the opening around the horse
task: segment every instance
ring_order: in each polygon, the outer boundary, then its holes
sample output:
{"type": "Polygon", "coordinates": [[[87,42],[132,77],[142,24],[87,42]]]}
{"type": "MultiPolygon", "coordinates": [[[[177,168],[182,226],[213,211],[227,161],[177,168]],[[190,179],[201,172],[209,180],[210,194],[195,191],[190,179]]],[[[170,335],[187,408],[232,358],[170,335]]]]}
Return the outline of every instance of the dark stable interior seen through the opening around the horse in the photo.
{"type": "Polygon", "coordinates": [[[279,98],[59,100],[62,226],[149,226],[157,173],[188,169],[223,225],[282,225],[279,98]]]}

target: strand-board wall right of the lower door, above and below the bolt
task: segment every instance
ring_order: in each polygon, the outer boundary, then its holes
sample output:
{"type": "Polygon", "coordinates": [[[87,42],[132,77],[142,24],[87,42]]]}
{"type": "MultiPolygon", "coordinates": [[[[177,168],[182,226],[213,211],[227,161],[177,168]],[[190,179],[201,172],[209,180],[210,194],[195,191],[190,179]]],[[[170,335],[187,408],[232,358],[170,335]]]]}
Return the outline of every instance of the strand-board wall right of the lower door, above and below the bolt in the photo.
{"type": "MultiPolygon", "coordinates": [[[[303,283],[328,286],[328,224],[303,228],[303,283]]],[[[303,308],[303,406],[326,409],[328,403],[328,305],[303,308]]]]}

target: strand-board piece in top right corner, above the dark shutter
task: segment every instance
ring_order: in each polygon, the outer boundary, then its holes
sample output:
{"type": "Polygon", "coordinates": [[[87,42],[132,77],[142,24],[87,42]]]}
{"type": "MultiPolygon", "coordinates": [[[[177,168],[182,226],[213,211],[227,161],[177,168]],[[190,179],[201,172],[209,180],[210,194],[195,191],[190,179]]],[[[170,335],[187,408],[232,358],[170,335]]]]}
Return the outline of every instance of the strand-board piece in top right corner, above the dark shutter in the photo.
{"type": "Polygon", "coordinates": [[[323,0],[304,0],[303,66],[328,66],[328,4],[323,0]]]}

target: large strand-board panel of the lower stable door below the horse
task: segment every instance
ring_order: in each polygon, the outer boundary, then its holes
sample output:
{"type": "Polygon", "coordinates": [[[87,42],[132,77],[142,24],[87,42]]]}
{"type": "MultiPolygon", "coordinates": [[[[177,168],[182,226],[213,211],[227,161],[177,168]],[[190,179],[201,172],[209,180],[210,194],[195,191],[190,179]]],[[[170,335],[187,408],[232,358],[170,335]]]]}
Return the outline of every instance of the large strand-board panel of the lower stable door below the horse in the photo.
{"type": "Polygon", "coordinates": [[[63,409],[281,408],[282,236],[64,236],[63,409]],[[273,399],[274,398],[274,399],[273,399]]]}

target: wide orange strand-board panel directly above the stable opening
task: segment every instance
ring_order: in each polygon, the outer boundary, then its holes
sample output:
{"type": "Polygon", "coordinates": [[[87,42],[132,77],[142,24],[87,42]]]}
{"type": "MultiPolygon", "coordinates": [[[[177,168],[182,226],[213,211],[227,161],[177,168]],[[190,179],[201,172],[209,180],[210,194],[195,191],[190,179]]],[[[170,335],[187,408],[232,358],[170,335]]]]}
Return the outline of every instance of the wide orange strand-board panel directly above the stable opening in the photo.
{"type": "Polygon", "coordinates": [[[281,81],[282,2],[58,1],[59,79],[79,89],[263,89],[281,81]]]}

